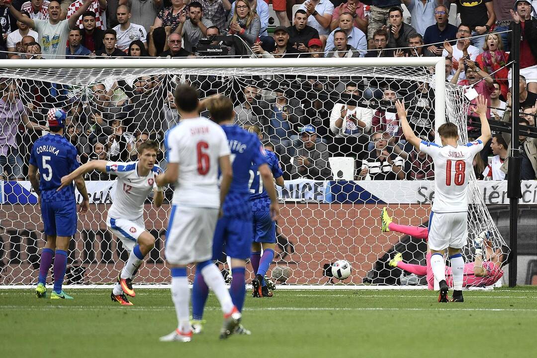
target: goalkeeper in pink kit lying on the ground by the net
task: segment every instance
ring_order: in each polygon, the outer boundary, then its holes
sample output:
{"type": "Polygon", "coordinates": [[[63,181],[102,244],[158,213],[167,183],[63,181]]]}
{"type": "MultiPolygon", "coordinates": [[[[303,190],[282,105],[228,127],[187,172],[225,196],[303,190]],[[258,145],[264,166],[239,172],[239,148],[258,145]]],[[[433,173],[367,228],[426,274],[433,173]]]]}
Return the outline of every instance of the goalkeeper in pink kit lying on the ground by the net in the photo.
{"type": "MultiPolygon", "coordinates": [[[[427,240],[427,235],[429,234],[427,228],[395,224],[392,222],[391,217],[388,216],[386,208],[382,209],[381,219],[382,232],[396,231],[427,240]]],[[[512,259],[511,250],[506,245],[493,250],[489,238],[490,232],[482,231],[474,239],[475,261],[465,264],[463,287],[491,286],[502,278],[502,267],[509,264],[512,259]]],[[[402,261],[402,254],[396,253],[395,257],[390,260],[389,265],[418,276],[427,276],[427,286],[432,290],[434,288],[434,275],[430,259],[431,251],[429,249],[427,249],[426,255],[427,266],[407,264],[402,261]]],[[[448,287],[453,287],[451,267],[448,266],[446,266],[446,282],[448,287]]]]}

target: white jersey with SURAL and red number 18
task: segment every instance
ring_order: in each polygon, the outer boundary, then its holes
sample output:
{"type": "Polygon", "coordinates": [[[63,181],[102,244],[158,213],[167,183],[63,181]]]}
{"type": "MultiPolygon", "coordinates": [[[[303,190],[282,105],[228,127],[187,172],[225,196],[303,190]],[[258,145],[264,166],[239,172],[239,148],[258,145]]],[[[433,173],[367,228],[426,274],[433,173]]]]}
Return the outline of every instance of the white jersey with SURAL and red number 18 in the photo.
{"type": "Polygon", "coordinates": [[[481,140],[456,148],[426,141],[419,144],[419,150],[429,154],[434,161],[434,213],[468,211],[466,187],[474,170],[474,156],[482,149],[481,140]]]}

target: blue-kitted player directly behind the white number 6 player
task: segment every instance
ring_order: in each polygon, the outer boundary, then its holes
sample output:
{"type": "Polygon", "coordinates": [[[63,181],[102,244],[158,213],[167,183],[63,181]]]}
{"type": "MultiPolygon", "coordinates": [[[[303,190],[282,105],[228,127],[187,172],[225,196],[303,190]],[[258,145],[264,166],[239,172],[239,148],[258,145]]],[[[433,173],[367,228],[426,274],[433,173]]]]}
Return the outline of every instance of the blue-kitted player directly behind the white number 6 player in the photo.
{"type": "MultiPolygon", "coordinates": [[[[226,133],[231,151],[233,181],[223,203],[224,216],[216,223],[213,240],[213,260],[222,257],[225,251],[231,258],[231,299],[242,312],[246,293],[245,264],[250,257],[254,226],[252,222],[252,204],[250,203],[250,183],[255,176],[261,177],[266,188],[267,211],[269,220],[277,219],[278,198],[274,189],[274,179],[267,164],[265,149],[257,135],[234,124],[235,112],[233,102],[223,96],[209,97],[202,101],[202,108],[207,107],[211,120],[222,126],[226,133]]],[[[259,180],[259,178],[258,178],[259,180]]],[[[259,182],[257,183],[260,186],[259,182]]],[[[199,271],[196,272],[192,289],[192,328],[194,333],[201,332],[201,319],[209,290],[199,271]]],[[[242,325],[237,326],[236,334],[250,334],[242,325]]]]}

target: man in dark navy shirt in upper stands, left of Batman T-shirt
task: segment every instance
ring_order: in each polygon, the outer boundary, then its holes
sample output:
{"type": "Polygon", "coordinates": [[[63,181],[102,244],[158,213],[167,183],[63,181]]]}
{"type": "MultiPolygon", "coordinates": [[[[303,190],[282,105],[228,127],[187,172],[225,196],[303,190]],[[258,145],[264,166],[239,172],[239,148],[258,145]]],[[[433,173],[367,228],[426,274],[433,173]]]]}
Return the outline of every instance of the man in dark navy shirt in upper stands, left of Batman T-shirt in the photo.
{"type": "Polygon", "coordinates": [[[427,49],[435,56],[441,56],[442,50],[444,50],[442,43],[457,38],[457,27],[448,23],[449,8],[445,5],[438,5],[434,9],[434,19],[436,24],[426,28],[423,42],[429,46],[427,49]],[[436,43],[436,45],[432,45],[433,43],[436,43]]]}

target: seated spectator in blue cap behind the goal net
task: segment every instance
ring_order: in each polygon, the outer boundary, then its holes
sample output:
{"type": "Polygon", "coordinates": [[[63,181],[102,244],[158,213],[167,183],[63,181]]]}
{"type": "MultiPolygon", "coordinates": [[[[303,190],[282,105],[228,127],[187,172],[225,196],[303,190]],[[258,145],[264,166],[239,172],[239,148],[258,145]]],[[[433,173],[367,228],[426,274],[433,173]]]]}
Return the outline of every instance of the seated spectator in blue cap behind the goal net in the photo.
{"type": "Polygon", "coordinates": [[[311,180],[330,180],[331,170],[328,162],[328,148],[317,142],[317,133],[312,125],[300,129],[300,138],[293,142],[296,150],[291,159],[291,178],[311,180]]]}

